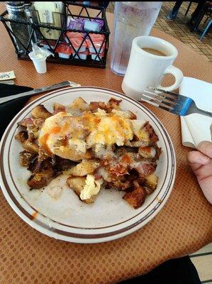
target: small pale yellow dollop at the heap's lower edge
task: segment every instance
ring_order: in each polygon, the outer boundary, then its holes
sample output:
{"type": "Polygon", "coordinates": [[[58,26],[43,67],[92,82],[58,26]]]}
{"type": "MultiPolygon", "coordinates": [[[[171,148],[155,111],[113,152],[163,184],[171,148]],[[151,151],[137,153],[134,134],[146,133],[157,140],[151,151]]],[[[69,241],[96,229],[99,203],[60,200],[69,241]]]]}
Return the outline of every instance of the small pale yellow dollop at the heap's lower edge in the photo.
{"type": "Polygon", "coordinates": [[[103,180],[95,180],[94,175],[87,175],[85,183],[86,185],[84,185],[84,189],[80,193],[81,200],[88,200],[91,196],[97,195],[103,184],[103,180]]]}

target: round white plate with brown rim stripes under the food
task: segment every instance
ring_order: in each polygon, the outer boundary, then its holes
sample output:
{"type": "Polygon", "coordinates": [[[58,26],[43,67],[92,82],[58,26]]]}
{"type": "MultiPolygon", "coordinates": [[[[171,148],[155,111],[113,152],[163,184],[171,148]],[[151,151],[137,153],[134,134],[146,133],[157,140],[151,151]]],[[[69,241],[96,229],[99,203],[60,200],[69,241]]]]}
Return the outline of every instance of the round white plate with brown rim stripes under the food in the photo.
{"type": "Polygon", "coordinates": [[[1,188],[13,210],[34,229],[65,241],[76,243],[99,243],[118,239],[140,229],[156,216],[167,201],[176,171],[174,148],[164,126],[157,117],[137,101],[118,92],[95,87],[77,87],[57,90],[28,104],[7,127],[1,139],[1,188]],[[94,204],[84,204],[66,185],[66,177],[60,176],[50,182],[44,190],[29,191],[26,180],[30,172],[19,165],[19,152],[23,151],[14,136],[18,132],[17,122],[30,116],[38,104],[52,111],[54,102],[70,104],[77,97],[87,102],[108,102],[114,97],[122,99],[121,107],[129,109],[146,119],[159,137],[162,154],[157,166],[159,183],[143,206],[133,209],[122,199],[123,192],[101,190],[94,204]],[[61,187],[60,197],[53,199],[49,193],[61,187]]]}

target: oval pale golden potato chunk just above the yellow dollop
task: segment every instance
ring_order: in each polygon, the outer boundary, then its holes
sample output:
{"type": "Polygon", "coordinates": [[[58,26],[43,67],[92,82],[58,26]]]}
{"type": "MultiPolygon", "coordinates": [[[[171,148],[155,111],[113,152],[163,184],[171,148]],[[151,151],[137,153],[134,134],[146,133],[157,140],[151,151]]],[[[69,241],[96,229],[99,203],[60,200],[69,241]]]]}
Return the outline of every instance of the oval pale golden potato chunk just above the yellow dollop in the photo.
{"type": "Polygon", "coordinates": [[[76,177],[83,177],[84,175],[90,175],[94,173],[94,170],[99,167],[99,163],[95,160],[82,160],[82,163],[75,165],[74,168],[69,170],[69,174],[76,177]]]}

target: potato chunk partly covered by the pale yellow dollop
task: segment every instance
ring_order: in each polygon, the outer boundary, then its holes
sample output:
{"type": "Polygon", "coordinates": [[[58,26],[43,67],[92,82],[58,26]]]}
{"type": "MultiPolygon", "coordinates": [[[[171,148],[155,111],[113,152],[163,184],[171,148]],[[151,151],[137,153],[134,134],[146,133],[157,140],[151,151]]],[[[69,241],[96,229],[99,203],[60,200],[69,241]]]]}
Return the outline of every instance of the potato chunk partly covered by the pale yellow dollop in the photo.
{"type": "MultiPolygon", "coordinates": [[[[67,178],[67,184],[69,185],[70,188],[72,188],[72,190],[74,190],[74,192],[78,196],[80,196],[80,193],[84,189],[85,181],[86,181],[86,178],[82,178],[82,177],[81,178],[72,178],[72,177],[67,178]]],[[[87,200],[81,200],[81,201],[89,204],[89,203],[93,203],[95,200],[96,200],[96,195],[93,195],[91,198],[87,200]]]]}

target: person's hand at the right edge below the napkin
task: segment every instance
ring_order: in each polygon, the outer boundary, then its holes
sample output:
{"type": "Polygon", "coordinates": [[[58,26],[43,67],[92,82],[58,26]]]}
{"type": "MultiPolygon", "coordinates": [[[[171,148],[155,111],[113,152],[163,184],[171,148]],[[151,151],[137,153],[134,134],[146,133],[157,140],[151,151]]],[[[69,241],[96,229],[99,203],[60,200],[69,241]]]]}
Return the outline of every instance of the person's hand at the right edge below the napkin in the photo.
{"type": "Polygon", "coordinates": [[[189,152],[189,164],[194,170],[203,195],[212,204],[212,143],[202,141],[197,150],[189,152]]]}

